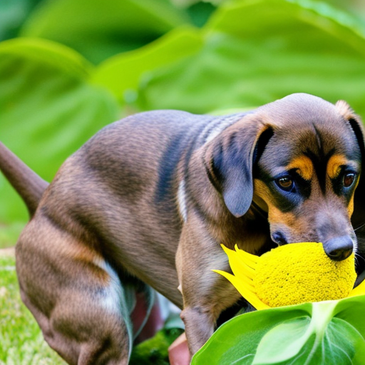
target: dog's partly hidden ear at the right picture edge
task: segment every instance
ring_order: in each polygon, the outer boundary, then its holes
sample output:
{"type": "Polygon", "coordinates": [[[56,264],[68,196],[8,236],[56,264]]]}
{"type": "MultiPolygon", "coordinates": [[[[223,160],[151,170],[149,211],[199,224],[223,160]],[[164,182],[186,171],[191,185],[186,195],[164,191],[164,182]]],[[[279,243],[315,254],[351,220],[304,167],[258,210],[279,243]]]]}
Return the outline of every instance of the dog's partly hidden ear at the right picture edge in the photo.
{"type": "Polygon", "coordinates": [[[365,140],[364,140],[364,127],[361,122],[359,115],[354,113],[349,104],[345,101],[337,101],[336,108],[339,113],[344,116],[344,118],[351,125],[352,130],[354,130],[357,143],[359,144],[361,151],[361,176],[359,180],[359,185],[356,187],[354,196],[354,212],[351,217],[351,222],[354,228],[364,225],[365,223],[365,140]]]}

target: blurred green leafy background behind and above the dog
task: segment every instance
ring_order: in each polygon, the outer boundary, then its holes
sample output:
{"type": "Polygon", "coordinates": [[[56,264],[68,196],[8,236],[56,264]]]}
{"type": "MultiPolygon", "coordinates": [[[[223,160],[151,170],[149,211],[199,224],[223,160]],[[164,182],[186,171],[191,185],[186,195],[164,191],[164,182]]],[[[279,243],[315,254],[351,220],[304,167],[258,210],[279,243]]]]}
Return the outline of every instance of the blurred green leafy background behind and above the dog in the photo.
{"type": "MultiPolygon", "coordinates": [[[[103,125],[142,110],[307,92],[364,117],[364,4],[334,1],[1,1],[0,140],[51,180],[103,125]]],[[[26,221],[2,175],[0,201],[0,223],[26,221]]]]}

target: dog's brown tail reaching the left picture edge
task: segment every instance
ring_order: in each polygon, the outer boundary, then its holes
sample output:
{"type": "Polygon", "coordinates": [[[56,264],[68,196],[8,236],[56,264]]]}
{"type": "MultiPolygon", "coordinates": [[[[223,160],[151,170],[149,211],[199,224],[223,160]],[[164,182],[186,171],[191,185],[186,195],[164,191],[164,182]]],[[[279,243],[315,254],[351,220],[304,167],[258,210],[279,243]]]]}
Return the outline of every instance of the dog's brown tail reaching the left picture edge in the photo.
{"type": "Polygon", "coordinates": [[[48,183],[0,142],[0,170],[26,203],[32,217],[48,183]]]}

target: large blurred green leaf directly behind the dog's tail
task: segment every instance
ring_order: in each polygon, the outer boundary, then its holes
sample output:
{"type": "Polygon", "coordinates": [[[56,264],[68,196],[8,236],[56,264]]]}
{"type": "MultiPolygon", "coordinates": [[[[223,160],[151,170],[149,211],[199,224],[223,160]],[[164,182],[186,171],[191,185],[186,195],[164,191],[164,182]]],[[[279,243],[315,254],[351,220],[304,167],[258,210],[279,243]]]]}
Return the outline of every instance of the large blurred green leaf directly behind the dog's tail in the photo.
{"type": "MultiPolygon", "coordinates": [[[[50,41],[0,44],[0,140],[44,179],[91,135],[118,118],[115,98],[88,82],[93,67],[50,41]]],[[[26,220],[0,174],[0,222],[26,220]]]]}

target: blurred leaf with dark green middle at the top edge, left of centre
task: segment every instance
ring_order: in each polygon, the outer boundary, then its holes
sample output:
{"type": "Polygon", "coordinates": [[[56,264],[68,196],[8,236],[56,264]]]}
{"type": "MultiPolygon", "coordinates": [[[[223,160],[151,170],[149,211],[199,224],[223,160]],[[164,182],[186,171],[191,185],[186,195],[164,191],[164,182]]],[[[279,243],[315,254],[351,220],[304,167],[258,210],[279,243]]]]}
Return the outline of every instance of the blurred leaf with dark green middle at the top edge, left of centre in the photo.
{"type": "Polygon", "coordinates": [[[63,43],[99,63],[189,21],[168,0],[46,0],[21,35],[63,43]]]}

